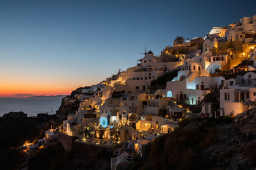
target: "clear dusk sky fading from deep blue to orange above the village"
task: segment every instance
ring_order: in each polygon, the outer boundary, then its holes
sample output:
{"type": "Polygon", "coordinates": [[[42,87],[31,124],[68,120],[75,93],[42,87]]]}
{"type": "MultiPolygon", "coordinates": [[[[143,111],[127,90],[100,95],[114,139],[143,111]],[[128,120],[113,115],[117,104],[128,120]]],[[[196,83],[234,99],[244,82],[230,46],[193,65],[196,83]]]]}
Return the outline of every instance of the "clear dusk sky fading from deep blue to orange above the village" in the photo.
{"type": "Polygon", "coordinates": [[[256,15],[256,1],[0,1],[0,97],[70,94],[256,15]]]}

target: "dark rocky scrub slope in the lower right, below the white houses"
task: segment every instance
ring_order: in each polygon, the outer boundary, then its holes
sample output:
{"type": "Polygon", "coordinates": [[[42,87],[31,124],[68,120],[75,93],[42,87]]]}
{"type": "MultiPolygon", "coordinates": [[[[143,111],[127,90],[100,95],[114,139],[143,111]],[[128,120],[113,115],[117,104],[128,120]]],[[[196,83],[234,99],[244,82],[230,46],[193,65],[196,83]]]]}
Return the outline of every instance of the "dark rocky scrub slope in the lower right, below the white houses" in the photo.
{"type": "Polygon", "coordinates": [[[130,169],[255,169],[256,108],[236,118],[197,118],[157,138],[130,169]]]}

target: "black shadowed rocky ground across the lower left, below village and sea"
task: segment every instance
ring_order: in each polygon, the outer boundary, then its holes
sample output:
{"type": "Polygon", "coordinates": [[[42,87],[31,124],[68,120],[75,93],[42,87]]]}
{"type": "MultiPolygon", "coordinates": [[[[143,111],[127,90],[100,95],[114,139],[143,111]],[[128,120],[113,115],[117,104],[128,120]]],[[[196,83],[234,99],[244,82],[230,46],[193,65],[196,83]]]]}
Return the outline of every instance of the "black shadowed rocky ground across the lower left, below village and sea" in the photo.
{"type": "Polygon", "coordinates": [[[86,149],[77,144],[66,152],[58,141],[47,148],[23,147],[26,141],[36,143],[44,138],[47,129],[60,123],[55,115],[47,114],[26,117],[24,113],[8,113],[0,117],[0,169],[110,169],[113,152],[106,148],[86,149]]]}

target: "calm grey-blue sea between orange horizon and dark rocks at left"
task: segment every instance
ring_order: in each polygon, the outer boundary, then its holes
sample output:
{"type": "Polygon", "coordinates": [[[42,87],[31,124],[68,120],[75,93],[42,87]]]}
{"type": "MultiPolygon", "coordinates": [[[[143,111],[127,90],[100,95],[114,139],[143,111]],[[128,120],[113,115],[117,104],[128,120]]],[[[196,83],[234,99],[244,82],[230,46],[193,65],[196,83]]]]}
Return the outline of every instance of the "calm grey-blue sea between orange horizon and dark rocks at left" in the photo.
{"type": "Polygon", "coordinates": [[[54,99],[26,99],[26,98],[0,98],[0,117],[10,111],[23,111],[28,117],[36,116],[37,113],[55,114],[60,107],[61,98],[54,99]],[[51,110],[52,108],[52,110],[51,110]]]}

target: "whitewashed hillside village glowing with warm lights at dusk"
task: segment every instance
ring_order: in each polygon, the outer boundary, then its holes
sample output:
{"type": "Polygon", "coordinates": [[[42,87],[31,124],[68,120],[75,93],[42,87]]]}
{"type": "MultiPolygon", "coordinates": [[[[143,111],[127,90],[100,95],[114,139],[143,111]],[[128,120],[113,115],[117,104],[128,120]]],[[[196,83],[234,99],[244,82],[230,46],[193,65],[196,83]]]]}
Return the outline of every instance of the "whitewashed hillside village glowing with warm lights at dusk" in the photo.
{"type": "Polygon", "coordinates": [[[204,38],[179,36],[159,56],[145,52],[136,66],[65,97],[58,111],[63,124],[45,132],[45,146],[61,134],[79,146],[109,148],[116,169],[143,157],[145,145],[181,120],[236,117],[253,108],[255,57],[256,15],[212,27],[204,38]]]}

